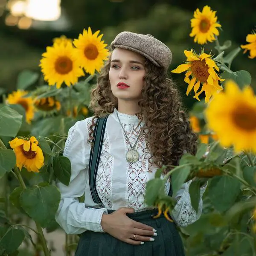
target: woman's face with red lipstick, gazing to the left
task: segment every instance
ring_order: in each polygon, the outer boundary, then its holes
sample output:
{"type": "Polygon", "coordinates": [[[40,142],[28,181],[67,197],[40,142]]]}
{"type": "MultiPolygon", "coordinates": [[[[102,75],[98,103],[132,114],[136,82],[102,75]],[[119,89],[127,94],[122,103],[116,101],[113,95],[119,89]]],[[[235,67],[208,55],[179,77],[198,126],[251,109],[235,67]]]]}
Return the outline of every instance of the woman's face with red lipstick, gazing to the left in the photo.
{"type": "Polygon", "coordinates": [[[145,58],[137,52],[115,48],[108,73],[111,91],[117,99],[138,101],[145,76],[145,58]]]}

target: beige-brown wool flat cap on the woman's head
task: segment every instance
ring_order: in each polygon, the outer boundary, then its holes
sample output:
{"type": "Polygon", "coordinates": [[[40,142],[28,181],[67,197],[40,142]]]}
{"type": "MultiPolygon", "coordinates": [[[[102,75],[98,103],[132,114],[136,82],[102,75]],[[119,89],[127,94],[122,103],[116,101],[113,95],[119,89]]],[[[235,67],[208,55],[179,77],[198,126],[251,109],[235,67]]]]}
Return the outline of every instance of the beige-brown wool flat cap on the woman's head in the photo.
{"type": "Polygon", "coordinates": [[[168,69],[172,62],[171,50],[153,35],[143,35],[124,31],[119,33],[110,45],[115,48],[138,52],[153,62],[157,67],[168,69]]]}

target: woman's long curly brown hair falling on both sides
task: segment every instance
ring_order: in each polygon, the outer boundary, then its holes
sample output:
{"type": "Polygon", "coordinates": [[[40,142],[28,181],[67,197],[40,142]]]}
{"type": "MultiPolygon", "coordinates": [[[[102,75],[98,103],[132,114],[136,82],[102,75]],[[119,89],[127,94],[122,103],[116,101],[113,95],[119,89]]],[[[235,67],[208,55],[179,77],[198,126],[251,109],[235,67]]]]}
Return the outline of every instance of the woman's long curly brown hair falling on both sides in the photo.
{"type": "MultiPolygon", "coordinates": [[[[96,87],[91,91],[90,108],[95,113],[90,125],[89,143],[93,143],[95,119],[113,113],[118,101],[111,91],[108,73],[111,56],[102,68],[96,87]]],[[[161,168],[167,166],[165,173],[177,166],[186,152],[195,154],[197,135],[191,130],[188,118],[181,103],[180,94],[172,79],[162,67],[145,61],[144,86],[138,102],[140,112],[137,116],[145,125],[142,131],[146,148],[151,154],[151,164],[161,168]]]]}

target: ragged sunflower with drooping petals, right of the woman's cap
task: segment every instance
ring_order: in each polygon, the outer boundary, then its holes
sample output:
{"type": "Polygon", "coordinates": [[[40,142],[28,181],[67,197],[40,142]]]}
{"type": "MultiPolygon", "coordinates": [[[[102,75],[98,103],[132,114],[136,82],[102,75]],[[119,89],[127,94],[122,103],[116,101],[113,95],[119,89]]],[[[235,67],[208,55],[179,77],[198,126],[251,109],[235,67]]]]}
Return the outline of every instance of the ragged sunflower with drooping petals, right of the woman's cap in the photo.
{"type": "Polygon", "coordinates": [[[215,72],[219,71],[218,66],[215,64],[215,61],[212,60],[211,55],[202,52],[200,55],[197,55],[194,50],[190,52],[184,50],[184,54],[187,57],[187,63],[179,65],[175,70],[172,70],[172,73],[181,73],[186,71],[184,81],[189,84],[186,95],[194,87],[194,92],[197,100],[200,101],[198,96],[204,91],[205,92],[205,102],[207,103],[215,92],[222,90],[222,87],[219,86],[218,81],[224,81],[225,79],[220,79],[215,72]],[[215,69],[215,70],[214,70],[215,69]],[[192,79],[189,79],[189,76],[192,76],[192,79]],[[202,88],[198,93],[198,89],[202,84],[202,88]]]}

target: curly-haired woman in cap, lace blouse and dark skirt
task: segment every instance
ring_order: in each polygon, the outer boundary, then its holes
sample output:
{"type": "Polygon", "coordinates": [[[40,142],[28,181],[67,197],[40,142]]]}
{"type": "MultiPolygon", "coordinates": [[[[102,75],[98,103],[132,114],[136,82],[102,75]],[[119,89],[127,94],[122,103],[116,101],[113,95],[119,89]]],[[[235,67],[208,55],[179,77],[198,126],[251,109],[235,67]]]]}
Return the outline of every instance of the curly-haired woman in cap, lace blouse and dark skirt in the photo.
{"type": "MultiPolygon", "coordinates": [[[[157,168],[178,165],[184,152],[196,150],[180,96],[167,79],[171,60],[170,49],[152,35],[122,32],[111,43],[110,58],[92,91],[95,116],[76,122],[68,133],[64,156],[71,162],[70,184],[58,183],[56,220],[66,233],[81,234],[76,256],[184,255],[176,225],[191,224],[202,211],[202,200],[198,213],[191,206],[191,181],[173,195],[174,222],[163,215],[153,218],[157,210],[144,202],[146,183],[157,168]],[[99,166],[90,186],[93,131],[96,120],[106,115],[99,166]]],[[[165,189],[172,194],[169,180],[165,189]]],[[[201,187],[201,197],[205,189],[201,187]]]]}

